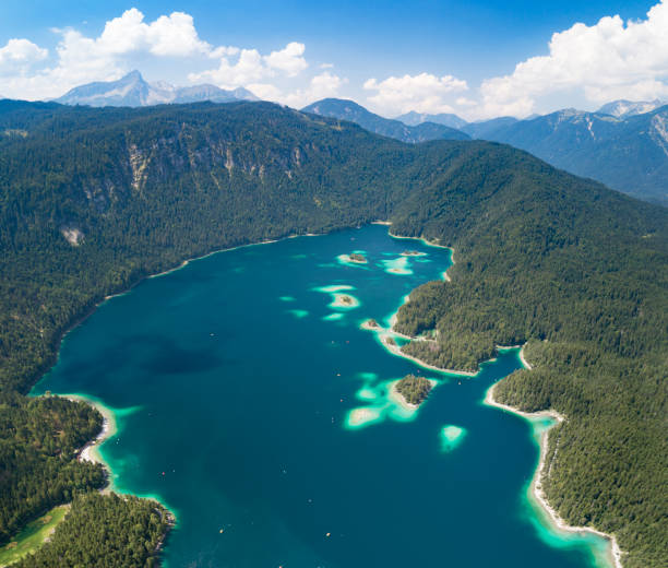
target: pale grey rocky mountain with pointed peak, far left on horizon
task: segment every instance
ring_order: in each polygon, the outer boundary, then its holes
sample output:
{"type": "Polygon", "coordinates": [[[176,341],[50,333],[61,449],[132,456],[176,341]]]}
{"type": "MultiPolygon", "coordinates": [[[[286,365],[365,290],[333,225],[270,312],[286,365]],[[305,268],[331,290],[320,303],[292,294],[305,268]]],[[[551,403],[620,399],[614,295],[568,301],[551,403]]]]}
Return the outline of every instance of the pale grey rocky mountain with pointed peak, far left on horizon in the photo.
{"type": "Polygon", "coordinates": [[[231,100],[258,100],[246,88],[225,91],[215,85],[177,87],[169,83],[148,83],[139,71],[132,71],[118,81],[88,83],[72,88],[56,103],[63,105],[102,106],[151,106],[166,103],[229,103],[231,100]]]}

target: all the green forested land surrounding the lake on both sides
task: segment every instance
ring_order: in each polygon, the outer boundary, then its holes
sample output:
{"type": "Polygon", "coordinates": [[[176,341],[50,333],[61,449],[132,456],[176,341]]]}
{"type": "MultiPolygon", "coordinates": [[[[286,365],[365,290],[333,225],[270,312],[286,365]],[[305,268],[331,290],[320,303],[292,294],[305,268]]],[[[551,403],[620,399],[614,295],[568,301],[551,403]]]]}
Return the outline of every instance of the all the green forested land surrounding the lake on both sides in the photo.
{"type": "Polygon", "coordinates": [[[29,566],[144,566],[166,531],[153,501],[98,495],[104,472],[74,459],[99,431],[96,411],[25,397],[69,328],[188,258],[379,218],[457,253],[452,282],[411,292],[398,313],[404,334],[438,330],[438,348],[402,348],[476,370],[496,345],[526,343],[533,370],[497,392],[566,417],[550,434],[549,501],[571,523],[615,533],[625,567],[663,566],[665,209],[510,146],[406,145],[267,103],[1,100],[0,132],[0,544],[72,502],[29,566]],[[25,135],[7,134],[16,130],[25,135]]]}

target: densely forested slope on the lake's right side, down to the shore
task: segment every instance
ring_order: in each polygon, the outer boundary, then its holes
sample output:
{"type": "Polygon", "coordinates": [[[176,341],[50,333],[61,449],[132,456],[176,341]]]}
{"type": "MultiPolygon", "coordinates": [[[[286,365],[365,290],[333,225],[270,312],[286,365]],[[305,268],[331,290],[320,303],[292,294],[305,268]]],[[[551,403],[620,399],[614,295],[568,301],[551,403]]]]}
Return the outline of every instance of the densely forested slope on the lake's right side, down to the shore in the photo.
{"type": "Polygon", "coordinates": [[[658,567],[668,557],[668,214],[580,184],[506,146],[458,156],[394,216],[393,233],[455,249],[452,282],[414,291],[397,329],[437,329],[439,350],[404,350],[463,370],[528,341],[534,370],[496,393],[568,417],[550,434],[550,502],[573,524],[613,532],[625,566],[658,567]]]}

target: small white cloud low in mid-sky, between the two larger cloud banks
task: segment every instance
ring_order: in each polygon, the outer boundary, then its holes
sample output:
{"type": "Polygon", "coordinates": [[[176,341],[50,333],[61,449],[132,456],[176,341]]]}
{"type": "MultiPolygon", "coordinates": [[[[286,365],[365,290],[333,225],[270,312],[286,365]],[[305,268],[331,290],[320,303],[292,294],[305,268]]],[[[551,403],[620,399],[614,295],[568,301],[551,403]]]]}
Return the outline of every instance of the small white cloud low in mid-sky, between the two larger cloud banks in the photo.
{"type": "Polygon", "coordinates": [[[419,75],[390,76],[384,81],[369,79],[363,87],[375,91],[367,100],[381,114],[399,115],[409,110],[418,113],[452,113],[445,97],[452,93],[466,91],[466,81],[452,75],[436,76],[430,73],[419,75]]]}

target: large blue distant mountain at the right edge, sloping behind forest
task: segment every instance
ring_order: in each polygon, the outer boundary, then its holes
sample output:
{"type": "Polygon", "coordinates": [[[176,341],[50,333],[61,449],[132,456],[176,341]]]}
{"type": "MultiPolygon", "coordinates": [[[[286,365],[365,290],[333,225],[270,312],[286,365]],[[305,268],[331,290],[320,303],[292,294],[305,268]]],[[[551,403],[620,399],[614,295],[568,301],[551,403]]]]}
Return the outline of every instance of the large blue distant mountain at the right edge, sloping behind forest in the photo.
{"type": "Polygon", "coordinates": [[[494,119],[464,130],[668,205],[668,106],[628,118],[570,108],[533,120],[494,119]]]}

